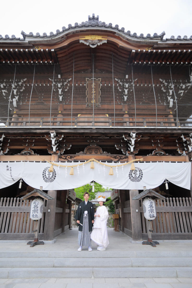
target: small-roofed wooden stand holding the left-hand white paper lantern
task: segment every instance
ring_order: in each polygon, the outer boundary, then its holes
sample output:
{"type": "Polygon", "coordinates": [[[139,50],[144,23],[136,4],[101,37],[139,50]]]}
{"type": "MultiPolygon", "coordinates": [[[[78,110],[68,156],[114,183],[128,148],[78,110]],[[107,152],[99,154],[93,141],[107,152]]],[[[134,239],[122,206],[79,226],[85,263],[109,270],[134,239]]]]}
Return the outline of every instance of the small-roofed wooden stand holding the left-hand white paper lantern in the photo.
{"type": "MultiPolygon", "coordinates": [[[[25,200],[29,197],[35,198],[37,196],[45,199],[45,200],[53,200],[54,198],[47,195],[45,192],[42,191],[43,187],[40,187],[40,190],[34,189],[32,192],[27,193],[25,196],[21,197],[21,200],[25,200]]],[[[35,230],[32,232],[35,232],[35,237],[33,241],[28,241],[27,245],[30,245],[30,247],[34,247],[35,245],[44,245],[43,241],[38,240],[38,227],[39,227],[39,220],[33,220],[33,223],[35,222],[35,230]]]]}

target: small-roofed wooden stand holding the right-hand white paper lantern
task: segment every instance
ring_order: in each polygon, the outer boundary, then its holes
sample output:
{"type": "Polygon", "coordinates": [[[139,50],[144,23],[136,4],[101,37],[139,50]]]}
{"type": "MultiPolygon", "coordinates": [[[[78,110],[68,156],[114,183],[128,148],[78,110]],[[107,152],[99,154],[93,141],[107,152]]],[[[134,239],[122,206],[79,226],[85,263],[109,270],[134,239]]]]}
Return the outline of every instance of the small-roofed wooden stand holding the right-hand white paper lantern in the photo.
{"type": "MultiPolygon", "coordinates": [[[[145,191],[138,194],[136,197],[132,198],[133,200],[141,200],[145,197],[151,197],[153,199],[165,199],[164,196],[161,194],[153,191],[152,189],[147,189],[146,187],[143,187],[145,191]]],[[[142,245],[151,245],[152,247],[156,247],[156,245],[159,245],[159,242],[153,241],[151,238],[151,222],[152,220],[147,220],[147,232],[148,232],[148,240],[143,241],[142,245]]]]}

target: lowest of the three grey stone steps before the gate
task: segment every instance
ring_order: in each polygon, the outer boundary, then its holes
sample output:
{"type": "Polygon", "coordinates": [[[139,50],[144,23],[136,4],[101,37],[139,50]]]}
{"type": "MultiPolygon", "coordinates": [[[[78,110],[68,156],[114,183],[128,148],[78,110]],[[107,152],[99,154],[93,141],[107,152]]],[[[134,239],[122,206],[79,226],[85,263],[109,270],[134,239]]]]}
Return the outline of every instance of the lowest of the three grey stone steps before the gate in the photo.
{"type": "Polygon", "coordinates": [[[0,278],[191,278],[191,267],[0,268],[0,278]]]}

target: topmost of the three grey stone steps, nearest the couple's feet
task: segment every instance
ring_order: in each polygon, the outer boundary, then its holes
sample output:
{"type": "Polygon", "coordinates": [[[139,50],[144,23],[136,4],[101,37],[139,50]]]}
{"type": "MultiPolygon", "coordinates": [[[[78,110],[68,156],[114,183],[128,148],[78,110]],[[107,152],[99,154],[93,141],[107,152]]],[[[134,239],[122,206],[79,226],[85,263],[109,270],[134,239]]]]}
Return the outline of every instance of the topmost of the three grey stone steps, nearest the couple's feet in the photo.
{"type": "MultiPolygon", "coordinates": [[[[149,247],[151,248],[151,247],[149,247]]],[[[0,258],[130,258],[130,257],[192,257],[189,251],[158,251],[151,248],[149,251],[0,251],[0,258]]]]}

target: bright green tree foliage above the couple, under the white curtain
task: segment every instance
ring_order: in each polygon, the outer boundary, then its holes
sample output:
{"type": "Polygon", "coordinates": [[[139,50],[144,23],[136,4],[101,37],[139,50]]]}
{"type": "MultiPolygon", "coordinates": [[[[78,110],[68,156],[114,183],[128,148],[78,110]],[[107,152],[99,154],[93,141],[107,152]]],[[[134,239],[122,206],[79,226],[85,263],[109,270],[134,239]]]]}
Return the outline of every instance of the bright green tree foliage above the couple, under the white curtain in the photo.
{"type": "Polygon", "coordinates": [[[95,199],[97,192],[101,192],[102,193],[102,192],[104,192],[106,190],[106,188],[104,188],[101,184],[98,184],[96,182],[94,182],[94,186],[95,186],[95,191],[94,192],[92,192],[91,183],[88,183],[88,184],[83,185],[81,187],[75,188],[76,196],[78,198],[84,200],[83,194],[85,192],[88,192],[90,194],[89,200],[92,200],[92,199],[95,199]]]}

